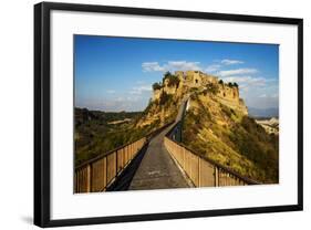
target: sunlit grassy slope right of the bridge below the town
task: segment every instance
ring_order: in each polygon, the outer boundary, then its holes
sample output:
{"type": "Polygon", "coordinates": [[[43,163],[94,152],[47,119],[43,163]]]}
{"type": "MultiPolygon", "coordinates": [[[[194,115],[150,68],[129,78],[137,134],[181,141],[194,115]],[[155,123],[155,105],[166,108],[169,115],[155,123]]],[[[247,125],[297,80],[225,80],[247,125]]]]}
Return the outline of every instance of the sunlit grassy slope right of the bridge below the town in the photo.
{"type": "Polygon", "coordinates": [[[217,102],[194,94],[184,122],[184,143],[237,172],[262,182],[278,182],[278,136],[217,102]]]}

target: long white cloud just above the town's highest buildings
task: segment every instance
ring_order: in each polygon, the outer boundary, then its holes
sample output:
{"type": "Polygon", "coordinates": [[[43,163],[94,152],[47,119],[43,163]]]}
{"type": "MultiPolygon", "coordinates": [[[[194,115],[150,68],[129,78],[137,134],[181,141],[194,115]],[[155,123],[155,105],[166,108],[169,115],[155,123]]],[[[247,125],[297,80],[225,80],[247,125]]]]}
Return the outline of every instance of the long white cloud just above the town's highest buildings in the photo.
{"type": "Polygon", "coordinates": [[[144,72],[166,72],[166,71],[189,71],[189,70],[201,70],[199,62],[187,62],[187,61],[168,61],[160,65],[158,62],[144,62],[142,64],[144,72]]]}

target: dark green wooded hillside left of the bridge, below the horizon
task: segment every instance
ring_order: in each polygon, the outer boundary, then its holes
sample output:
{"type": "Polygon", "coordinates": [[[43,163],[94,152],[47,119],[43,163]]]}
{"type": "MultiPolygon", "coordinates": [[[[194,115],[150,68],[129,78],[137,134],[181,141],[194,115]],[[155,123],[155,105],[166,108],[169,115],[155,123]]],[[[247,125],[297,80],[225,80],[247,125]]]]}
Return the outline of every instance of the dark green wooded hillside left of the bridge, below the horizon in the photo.
{"type": "Polygon", "coordinates": [[[137,140],[158,126],[155,122],[145,127],[136,127],[142,112],[106,113],[75,108],[74,115],[75,166],[100,154],[137,140]],[[126,122],[111,124],[114,121],[123,119],[126,122]]]}

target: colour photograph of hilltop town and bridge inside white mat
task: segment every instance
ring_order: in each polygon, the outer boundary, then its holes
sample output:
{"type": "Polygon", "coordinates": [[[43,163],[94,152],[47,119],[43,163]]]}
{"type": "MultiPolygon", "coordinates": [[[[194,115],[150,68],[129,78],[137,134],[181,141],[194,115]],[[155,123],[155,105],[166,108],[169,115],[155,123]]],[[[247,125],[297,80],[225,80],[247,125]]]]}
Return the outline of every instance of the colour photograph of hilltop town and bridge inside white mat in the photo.
{"type": "Polygon", "coordinates": [[[279,184],[279,44],[73,35],[74,194],[279,184]]]}

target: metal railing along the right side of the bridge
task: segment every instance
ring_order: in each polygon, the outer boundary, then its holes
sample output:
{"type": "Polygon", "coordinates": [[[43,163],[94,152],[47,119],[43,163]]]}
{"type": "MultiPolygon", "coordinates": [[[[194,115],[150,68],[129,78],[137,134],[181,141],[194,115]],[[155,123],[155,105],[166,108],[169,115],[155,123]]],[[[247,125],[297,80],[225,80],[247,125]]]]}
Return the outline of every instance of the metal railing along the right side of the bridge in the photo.
{"type": "MultiPolygon", "coordinates": [[[[172,130],[174,128],[175,126],[172,130]]],[[[164,137],[164,145],[195,187],[259,185],[207,157],[199,156],[182,143],[170,139],[172,130],[164,137]]]]}

